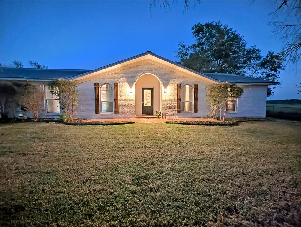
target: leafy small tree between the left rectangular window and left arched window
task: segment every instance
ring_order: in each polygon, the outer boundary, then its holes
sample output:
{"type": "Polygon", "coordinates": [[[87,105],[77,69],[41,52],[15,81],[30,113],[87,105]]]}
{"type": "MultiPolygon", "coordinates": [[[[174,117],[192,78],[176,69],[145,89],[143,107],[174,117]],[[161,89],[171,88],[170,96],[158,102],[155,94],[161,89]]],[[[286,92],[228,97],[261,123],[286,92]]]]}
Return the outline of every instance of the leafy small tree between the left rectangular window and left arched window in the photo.
{"type": "Polygon", "coordinates": [[[69,117],[74,120],[74,113],[78,105],[78,92],[76,90],[76,80],[53,80],[49,84],[50,92],[60,99],[60,107],[63,111],[64,118],[69,117]]]}

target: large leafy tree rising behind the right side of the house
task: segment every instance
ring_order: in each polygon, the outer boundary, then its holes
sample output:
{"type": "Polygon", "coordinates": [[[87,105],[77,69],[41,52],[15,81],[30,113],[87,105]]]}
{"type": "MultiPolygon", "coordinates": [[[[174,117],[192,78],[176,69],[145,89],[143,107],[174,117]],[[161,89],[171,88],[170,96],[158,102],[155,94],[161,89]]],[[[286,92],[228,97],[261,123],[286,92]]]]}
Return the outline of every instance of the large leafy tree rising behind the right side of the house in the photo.
{"type": "MultiPolygon", "coordinates": [[[[284,58],[273,51],[262,56],[256,46],[247,47],[244,36],[221,22],[197,23],[192,28],[195,42],[179,43],[180,64],[198,72],[231,73],[277,81],[284,58]]],[[[269,87],[268,96],[273,94],[269,87]]]]}

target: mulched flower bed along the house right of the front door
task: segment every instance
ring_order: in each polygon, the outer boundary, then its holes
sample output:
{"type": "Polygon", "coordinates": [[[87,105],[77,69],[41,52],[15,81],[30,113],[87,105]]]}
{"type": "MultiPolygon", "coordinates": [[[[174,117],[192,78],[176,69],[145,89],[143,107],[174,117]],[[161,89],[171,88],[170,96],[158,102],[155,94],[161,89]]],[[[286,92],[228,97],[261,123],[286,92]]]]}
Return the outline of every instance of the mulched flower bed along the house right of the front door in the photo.
{"type": "Polygon", "coordinates": [[[240,122],[246,121],[275,121],[270,118],[226,118],[225,121],[166,121],[168,124],[178,125],[220,125],[220,126],[236,126],[240,122]]]}

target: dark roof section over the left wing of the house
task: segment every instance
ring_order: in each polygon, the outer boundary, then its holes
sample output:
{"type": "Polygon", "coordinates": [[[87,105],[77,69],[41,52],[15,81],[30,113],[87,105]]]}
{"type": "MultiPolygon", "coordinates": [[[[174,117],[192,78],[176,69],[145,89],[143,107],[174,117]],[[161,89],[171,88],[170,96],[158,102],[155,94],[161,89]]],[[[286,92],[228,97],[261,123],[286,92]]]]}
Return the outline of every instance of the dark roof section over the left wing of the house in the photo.
{"type": "Polygon", "coordinates": [[[0,68],[0,79],[15,80],[55,80],[74,77],[91,70],[82,69],[36,69],[36,68],[0,68]]]}

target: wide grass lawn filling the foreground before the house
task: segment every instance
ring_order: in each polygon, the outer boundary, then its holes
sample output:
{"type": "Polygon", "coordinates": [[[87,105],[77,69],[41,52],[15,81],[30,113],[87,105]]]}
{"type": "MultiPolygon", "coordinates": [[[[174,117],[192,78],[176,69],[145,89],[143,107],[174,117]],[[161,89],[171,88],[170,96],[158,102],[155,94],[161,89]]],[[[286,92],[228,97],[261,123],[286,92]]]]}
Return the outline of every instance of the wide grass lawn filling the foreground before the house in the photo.
{"type": "Polygon", "coordinates": [[[1,126],[1,226],[297,226],[301,122],[1,126]]]}

